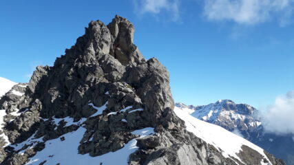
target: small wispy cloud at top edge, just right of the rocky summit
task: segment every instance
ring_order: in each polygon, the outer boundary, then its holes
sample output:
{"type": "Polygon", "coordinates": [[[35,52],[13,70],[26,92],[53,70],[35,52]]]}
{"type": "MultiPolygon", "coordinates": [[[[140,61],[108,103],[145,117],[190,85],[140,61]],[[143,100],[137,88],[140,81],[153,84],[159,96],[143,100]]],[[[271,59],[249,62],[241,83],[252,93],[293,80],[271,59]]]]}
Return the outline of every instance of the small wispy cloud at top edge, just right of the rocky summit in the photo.
{"type": "Polygon", "coordinates": [[[139,14],[158,15],[167,12],[171,16],[172,21],[179,21],[180,12],[178,0],[134,0],[136,12],[139,14]]]}

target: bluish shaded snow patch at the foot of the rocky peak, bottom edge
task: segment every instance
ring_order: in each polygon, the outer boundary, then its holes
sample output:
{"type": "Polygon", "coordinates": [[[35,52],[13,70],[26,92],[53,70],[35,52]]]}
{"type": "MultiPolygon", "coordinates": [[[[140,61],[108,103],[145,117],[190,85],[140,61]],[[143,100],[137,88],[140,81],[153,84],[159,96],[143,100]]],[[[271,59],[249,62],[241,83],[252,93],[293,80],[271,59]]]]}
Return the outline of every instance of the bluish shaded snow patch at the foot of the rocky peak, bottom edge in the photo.
{"type": "MultiPolygon", "coordinates": [[[[40,164],[43,161],[45,164],[127,164],[129,155],[138,149],[136,139],[130,140],[123,148],[115,152],[109,152],[104,155],[91,157],[89,154],[78,154],[78,145],[85,133],[86,129],[82,126],[76,131],[63,135],[65,140],[59,138],[48,140],[45,142],[45,148],[39,151],[30,158],[27,165],[40,164]]],[[[133,131],[132,134],[144,137],[154,133],[154,128],[147,127],[133,131]]]]}

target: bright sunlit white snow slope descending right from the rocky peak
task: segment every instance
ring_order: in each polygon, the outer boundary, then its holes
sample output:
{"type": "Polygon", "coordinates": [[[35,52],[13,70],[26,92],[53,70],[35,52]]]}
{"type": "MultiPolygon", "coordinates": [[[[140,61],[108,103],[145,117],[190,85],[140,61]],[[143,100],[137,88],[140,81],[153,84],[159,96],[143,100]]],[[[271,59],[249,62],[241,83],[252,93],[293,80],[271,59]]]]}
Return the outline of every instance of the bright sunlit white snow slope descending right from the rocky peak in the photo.
{"type": "MultiPolygon", "coordinates": [[[[192,115],[189,115],[187,111],[175,107],[174,112],[178,115],[179,118],[185,121],[187,126],[187,131],[194,133],[196,136],[200,137],[205,142],[215,146],[220,151],[224,157],[234,157],[235,159],[242,160],[238,156],[238,153],[242,151],[242,146],[249,146],[255,151],[258,151],[264,158],[269,161],[268,157],[264,154],[264,150],[255,144],[245,140],[244,138],[223,129],[220,126],[215,124],[210,124],[202,120],[194,118],[192,115]]],[[[268,164],[261,162],[261,164],[268,164]]]]}

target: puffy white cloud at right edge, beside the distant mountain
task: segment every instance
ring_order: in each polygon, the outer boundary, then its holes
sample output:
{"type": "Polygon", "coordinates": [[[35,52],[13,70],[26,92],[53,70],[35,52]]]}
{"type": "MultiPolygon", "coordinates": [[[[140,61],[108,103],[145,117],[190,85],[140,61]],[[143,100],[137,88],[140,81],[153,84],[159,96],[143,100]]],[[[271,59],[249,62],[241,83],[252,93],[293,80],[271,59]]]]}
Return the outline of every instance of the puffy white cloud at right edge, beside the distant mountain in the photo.
{"type": "Polygon", "coordinates": [[[271,133],[294,133],[294,91],[285,96],[278,96],[275,104],[263,114],[264,129],[271,133]]]}

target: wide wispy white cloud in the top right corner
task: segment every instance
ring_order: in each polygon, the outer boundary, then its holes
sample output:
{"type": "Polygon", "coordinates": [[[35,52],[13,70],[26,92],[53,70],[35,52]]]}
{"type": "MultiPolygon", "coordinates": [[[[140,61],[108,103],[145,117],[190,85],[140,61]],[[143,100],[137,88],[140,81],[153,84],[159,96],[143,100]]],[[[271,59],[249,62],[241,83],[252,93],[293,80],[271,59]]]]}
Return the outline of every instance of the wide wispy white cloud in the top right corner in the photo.
{"type": "Polygon", "coordinates": [[[242,25],[278,19],[281,26],[290,21],[293,0],[204,0],[204,16],[211,21],[233,21],[242,25]]]}

